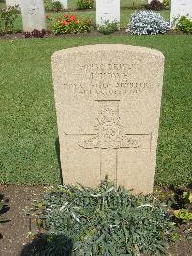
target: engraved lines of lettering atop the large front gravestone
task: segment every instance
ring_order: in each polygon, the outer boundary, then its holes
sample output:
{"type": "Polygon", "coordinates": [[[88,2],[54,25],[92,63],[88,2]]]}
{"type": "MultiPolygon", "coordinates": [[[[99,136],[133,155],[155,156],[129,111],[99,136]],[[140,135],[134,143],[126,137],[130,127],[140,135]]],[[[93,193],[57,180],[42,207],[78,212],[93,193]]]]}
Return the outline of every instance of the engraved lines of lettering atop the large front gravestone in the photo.
{"type": "MultiPolygon", "coordinates": [[[[75,82],[68,81],[63,86],[67,87],[74,96],[90,96],[94,99],[101,99],[102,96],[121,97],[152,91],[154,85],[150,80],[132,78],[132,73],[136,72],[136,65],[133,63],[78,66],[74,71],[75,82]]],[[[65,77],[67,81],[67,73],[65,77]]]]}

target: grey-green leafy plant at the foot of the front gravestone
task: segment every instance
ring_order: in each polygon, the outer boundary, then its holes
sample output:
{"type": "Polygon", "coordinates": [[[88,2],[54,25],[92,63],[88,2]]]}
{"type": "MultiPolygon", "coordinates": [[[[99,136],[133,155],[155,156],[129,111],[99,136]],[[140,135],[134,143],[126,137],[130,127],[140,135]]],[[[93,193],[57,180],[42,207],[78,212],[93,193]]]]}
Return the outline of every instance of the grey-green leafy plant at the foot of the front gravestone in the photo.
{"type": "Polygon", "coordinates": [[[74,255],[155,255],[175,234],[165,205],[108,180],[95,189],[52,187],[31,211],[48,234],[73,241],[74,255]]]}

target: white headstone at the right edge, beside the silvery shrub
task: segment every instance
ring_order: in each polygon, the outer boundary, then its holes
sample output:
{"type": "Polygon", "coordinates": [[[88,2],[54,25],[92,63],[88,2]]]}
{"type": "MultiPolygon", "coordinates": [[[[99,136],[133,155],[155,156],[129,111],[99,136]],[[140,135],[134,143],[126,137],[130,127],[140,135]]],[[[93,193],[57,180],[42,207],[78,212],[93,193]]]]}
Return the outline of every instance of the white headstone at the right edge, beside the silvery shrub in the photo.
{"type": "Polygon", "coordinates": [[[170,24],[174,27],[174,20],[181,16],[192,18],[192,0],[171,0],[170,24]]]}

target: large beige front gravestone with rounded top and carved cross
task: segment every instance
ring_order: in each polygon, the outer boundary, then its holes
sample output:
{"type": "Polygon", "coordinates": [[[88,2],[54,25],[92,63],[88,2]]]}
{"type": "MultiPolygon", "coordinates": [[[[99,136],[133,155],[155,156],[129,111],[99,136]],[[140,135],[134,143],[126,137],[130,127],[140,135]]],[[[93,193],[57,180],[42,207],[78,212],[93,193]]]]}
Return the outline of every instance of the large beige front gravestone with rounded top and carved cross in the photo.
{"type": "Polygon", "coordinates": [[[55,52],[52,71],[65,183],[109,179],[153,191],[164,56],[130,45],[55,52]]]}

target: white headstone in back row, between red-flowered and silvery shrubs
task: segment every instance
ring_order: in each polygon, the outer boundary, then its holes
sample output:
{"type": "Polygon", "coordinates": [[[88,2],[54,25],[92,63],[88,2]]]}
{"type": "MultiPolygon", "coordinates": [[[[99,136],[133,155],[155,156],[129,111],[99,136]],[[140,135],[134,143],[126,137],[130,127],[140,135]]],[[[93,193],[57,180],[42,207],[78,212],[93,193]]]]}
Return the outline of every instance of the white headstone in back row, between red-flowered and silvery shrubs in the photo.
{"type": "Polygon", "coordinates": [[[96,24],[120,23],[120,0],[96,0],[96,24]]]}

